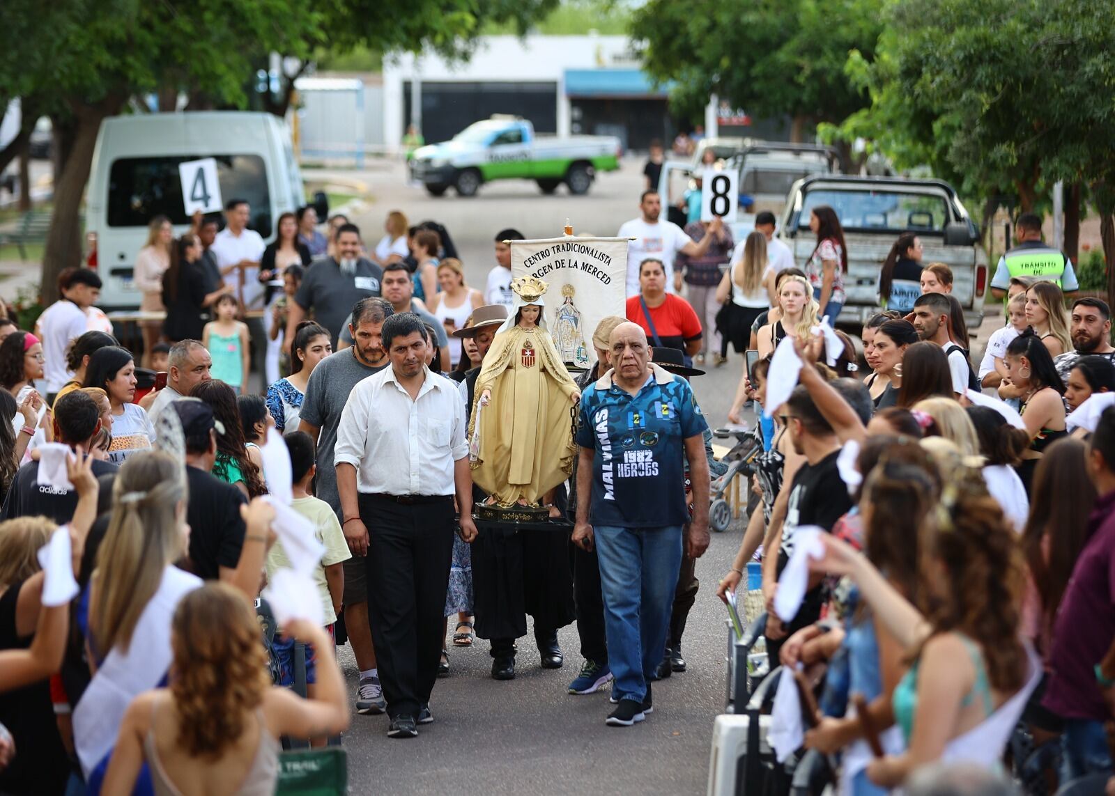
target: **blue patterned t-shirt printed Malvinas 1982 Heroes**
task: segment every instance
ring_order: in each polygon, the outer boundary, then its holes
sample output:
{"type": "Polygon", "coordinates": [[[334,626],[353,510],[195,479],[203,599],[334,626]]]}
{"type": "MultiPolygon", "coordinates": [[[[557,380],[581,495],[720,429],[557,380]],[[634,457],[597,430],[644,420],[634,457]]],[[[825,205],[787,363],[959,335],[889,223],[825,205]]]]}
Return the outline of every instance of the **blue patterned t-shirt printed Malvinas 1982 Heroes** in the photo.
{"type": "Polygon", "coordinates": [[[689,382],[652,368],[634,396],[593,382],[581,398],[576,444],[592,448],[589,522],[619,527],[683,525],[685,440],[708,428],[689,382]]]}

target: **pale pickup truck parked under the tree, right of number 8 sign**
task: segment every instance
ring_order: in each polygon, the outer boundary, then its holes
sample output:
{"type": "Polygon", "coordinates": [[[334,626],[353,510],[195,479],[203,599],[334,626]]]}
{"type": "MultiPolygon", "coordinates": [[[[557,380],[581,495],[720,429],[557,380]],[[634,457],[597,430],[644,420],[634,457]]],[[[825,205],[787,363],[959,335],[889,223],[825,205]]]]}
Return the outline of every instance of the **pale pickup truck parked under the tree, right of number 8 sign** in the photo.
{"type": "Polygon", "coordinates": [[[879,272],[898,236],[915,232],[924,246],[923,263],[952,269],[952,295],[964,309],[970,329],[983,318],[988,288],[987,254],[979,232],[951,185],[941,179],[817,175],[789,190],[778,236],[793,250],[798,268],[816,246],[809,212],[828,205],[836,211],[847,245],[847,301],[836,319],[859,328],[879,311],[879,272]]]}

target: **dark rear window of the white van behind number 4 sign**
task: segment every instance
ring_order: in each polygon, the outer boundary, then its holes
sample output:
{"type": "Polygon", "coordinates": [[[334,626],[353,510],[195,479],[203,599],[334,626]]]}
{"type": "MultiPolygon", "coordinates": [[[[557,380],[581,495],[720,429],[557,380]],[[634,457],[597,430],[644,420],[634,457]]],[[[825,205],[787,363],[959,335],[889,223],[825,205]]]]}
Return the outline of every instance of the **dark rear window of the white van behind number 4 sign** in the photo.
{"type": "MultiPolygon", "coordinates": [[[[249,229],[271,236],[271,194],[268,173],[259,155],[213,155],[221,198],[242,198],[252,208],[249,229]]],[[[173,224],[188,224],[182,203],[178,164],[197,155],[122,157],[113,162],[108,175],[108,225],[147,226],[156,215],[173,224]]]]}

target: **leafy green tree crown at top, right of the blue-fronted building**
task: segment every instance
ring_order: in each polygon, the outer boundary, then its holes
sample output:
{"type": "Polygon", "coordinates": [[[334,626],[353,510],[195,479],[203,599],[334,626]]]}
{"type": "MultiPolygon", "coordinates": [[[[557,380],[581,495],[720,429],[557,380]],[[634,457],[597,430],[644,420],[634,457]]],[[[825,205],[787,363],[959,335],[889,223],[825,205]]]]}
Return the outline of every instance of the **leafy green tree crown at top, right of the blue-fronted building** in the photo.
{"type": "Polygon", "coordinates": [[[690,117],[710,94],[757,117],[788,116],[799,140],[866,104],[844,71],[849,52],[870,58],[884,0],[649,0],[632,16],[644,65],[690,117]]]}

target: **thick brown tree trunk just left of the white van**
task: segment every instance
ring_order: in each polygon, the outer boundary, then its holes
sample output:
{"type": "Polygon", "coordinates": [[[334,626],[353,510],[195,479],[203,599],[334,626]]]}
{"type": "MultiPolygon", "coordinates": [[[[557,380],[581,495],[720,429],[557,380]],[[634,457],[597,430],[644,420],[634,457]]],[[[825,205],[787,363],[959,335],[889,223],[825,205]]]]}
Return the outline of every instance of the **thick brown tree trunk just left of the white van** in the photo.
{"type": "Polygon", "coordinates": [[[117,113],[123,100],[106,99],[95,107],[76,109],[71,135],[65,136],[67,147],[58,145],[61,169],[55,177],[55,213],[47,232],[47,247],[42,254],[42,301],[49,304],[58,298],[58,274],[68,265],[81,263],[81,195],[93,166],[93,147],[97,143],[100,123],[117,113]]]}

